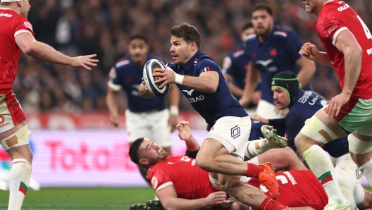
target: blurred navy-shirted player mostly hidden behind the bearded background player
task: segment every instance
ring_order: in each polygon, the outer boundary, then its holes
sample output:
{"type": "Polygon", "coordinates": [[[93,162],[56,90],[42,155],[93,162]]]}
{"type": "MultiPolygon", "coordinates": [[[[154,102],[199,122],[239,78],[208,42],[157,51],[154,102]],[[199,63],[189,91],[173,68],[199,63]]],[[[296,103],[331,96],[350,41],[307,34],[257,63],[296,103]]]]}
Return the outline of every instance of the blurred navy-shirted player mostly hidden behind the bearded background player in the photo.
{"type": "MultiPolygon", "coordinates": [[[[228,56],[223,59],[222,73],[228,81],[231,93],[238,100],[242,97],[245,76],[247,75],[249,60],[244,54],[244,40],[248,35],[254,34],[254,28],[252,23],[245,23],[242,27],[241,38],[242,44],[240,44],[236,49],[233,50],[228,56]]],[[[258,85],[259,86],[259,85],[258,85]]],[[[249,115],[256,113],[256,106],[259,104],[259,99],[261,99],[261,91],[259,87],[256,88],[254,92],[252,101],[248,105],[247,112],[249,115]]]]}

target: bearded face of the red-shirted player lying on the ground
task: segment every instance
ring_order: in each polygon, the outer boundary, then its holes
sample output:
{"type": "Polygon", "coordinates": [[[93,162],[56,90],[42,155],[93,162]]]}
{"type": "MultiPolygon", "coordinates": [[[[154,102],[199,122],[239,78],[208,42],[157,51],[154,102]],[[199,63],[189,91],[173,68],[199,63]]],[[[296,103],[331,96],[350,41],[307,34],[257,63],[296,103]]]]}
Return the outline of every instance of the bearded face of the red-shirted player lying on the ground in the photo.
{"type": "Polygon", "coordinates": [[[168,156],[163,148],[149,139],[144,139],[138,152],[149,166],[154,166],[156,163],[164,161],[168,156]]]}

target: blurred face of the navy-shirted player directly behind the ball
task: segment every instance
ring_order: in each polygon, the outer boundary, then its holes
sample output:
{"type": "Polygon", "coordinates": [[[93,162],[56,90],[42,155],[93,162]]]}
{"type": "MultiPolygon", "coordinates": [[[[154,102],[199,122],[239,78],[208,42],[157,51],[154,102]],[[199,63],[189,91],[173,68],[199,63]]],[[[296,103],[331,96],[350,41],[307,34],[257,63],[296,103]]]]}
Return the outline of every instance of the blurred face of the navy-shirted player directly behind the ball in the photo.
{"type": "Polygon", "coordinates": [[[144,39],[132,39],[128,45],[128,51],[132,62],[137,66],[141,66],[146,62],[147,54],[149,53],[149,45],[144,42],[144,39]]]}

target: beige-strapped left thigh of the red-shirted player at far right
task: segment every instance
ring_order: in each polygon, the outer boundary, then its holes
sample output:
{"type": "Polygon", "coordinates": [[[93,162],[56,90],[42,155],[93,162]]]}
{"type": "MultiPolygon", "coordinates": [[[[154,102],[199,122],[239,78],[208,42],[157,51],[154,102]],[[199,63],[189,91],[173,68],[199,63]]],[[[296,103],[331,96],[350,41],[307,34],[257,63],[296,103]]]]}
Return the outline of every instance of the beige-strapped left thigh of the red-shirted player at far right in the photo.
{"type": "Polygon", "coordinates": [[[337,121],[329,118],[324,109],[317,111],[314,116],[305,121],[305,125],[299,132],[294,142],[299,152],[304,152],[306,147],[312,144],[323,146],[332,140],[347,135],[337,121]]]}

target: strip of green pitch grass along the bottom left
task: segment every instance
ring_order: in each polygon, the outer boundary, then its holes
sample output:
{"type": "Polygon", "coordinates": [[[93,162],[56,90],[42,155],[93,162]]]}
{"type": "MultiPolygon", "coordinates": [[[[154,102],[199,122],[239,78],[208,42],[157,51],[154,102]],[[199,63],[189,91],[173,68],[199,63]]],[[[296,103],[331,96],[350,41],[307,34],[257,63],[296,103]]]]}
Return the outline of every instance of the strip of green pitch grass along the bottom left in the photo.
{"type": "MultiPolygon", "coordinates": [[[[371,187],[366,187],[372,191],[371,187]]],[[[9,192],[0,190],[0,209],[7,209],[9,192]]],[[[154,191],[147,188],[42,188],[29,190],[23,209],[40,210],[128,210],[132,204],[146,204],[154,199],[154,191]]]]}

